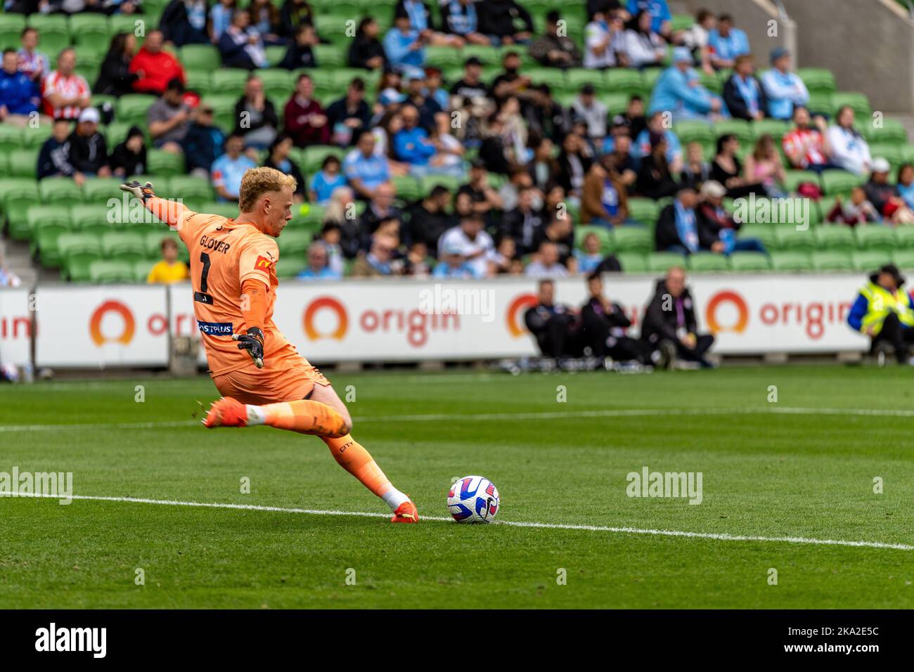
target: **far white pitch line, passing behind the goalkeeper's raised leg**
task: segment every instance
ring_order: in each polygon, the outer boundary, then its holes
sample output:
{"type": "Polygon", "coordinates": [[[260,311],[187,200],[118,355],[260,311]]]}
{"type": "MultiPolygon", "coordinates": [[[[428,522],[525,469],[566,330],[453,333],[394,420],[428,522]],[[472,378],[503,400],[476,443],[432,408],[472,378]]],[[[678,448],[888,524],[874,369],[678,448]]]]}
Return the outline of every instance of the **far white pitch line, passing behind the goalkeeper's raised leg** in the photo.
{"type": "MultiPolygon", "coordinates": [[[[853,415],[887,416],[896,418],[914,417],[914,410],[908,409],[815,409],[815,408],[771,408],[771,409],[601,409],[595,411],[543,411],[525,413],[416,413],[412,415],[356,416],[359,422],[431,422],[442,420],[562,420],[563,418],[624,418],[653,415],[853,415]]],[[[63,430],[109,430],[109,429],[150,429],[154,427],[192,427],[200,421],[148,421],[148,422],[92,422],[72,424],[23,424],[0,426],[2,432],[54,432],[63,430]]]]}

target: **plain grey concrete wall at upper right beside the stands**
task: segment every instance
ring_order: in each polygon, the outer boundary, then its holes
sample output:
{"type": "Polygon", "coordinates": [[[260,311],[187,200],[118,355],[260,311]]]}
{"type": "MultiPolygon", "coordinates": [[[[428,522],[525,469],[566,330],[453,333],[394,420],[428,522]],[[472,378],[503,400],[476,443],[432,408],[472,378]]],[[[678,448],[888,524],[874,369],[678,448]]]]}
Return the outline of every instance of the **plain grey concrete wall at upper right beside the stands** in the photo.
{"type": "Polygon", "coordinates": [[[828,68],[840,91],[863,91],[873,110],[914,112],[914,21],[894,0],[781,0],[789,20],[769,0],[680,0],[676,11],[700,7],[732,14],[749,35],[756,63],[771,48],[790,48],[802,68],[828,68]],[[779,36],[768,37],[768,20],[779,36]]]}

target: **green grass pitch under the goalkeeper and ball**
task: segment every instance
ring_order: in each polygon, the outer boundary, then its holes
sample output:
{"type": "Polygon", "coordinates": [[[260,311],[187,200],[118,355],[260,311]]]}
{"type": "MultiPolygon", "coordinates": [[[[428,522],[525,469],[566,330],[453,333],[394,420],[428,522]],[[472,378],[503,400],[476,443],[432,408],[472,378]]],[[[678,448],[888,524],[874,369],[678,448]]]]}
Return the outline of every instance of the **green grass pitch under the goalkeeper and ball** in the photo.
{"type": "MultiPolygon", "coordinates": [[[[914,607],[914,550],[767,540],[914,545],[908,369],[331,379],[420,516],[448,516],[452,479],[480,474],[498,520],[765,540],[5,496],[0,608],[914,607]],[[702,503],[627,496],[644,466],[701,472],[702,503]]],[[[0,472],[72,472],[79,496],[387,511],[319,439],[195,424],[215,397],[202,377],[2,388],[0,472]]]]}

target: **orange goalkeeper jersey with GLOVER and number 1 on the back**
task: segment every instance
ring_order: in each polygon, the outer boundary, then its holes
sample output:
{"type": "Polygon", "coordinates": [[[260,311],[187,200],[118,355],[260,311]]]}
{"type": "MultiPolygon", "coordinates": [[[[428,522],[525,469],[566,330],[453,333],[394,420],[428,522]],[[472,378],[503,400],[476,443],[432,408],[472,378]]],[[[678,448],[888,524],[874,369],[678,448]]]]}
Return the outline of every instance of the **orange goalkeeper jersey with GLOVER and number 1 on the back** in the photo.
{"type": "MultiPolygon", "coordinates": [[[[276,302],[276,240],[253,224],[238,223],[220,215],[206,215],[175,201],[151,198],[146,207],[177,228],[190,252],[190,281],[194,288],[194,315],[207,351],[212,376],[250,367],[263,375],[302,363],[302,357],[273,324],[276,302]],[[241,284],[254,278],[267,286],[264,324],[247,325],[242,314],[241,284]],[[249,326],[263,330],[263,368],[256,369],[247,350],[240,350],[232,334],[244,334],[249,326]]],[[[247,306],[245,306],[247,307],[247,306]]]]}

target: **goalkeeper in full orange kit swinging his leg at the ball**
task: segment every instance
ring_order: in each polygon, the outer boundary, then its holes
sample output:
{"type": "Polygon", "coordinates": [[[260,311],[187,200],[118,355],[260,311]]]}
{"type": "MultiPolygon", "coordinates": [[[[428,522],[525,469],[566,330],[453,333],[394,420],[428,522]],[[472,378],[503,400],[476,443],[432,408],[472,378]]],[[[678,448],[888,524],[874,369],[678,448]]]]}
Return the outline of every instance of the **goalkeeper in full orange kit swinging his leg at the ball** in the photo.
{"type": "Polygon", "coordinates": [[[390,485],[371,455],[350,436],[352,420],[330,381],[273,324],[276,240],[292,219],[295,179],[272,168],[250,168],[241,180],[239,216],[193,212],[131,182],[124,191],[177,229],[190,251],[194,314],[210,375],[222,398],[207,427],[266,424],[315,434],[337,463],[393,511],[395,523],[415,523],[409,497],[390,485]]]}

